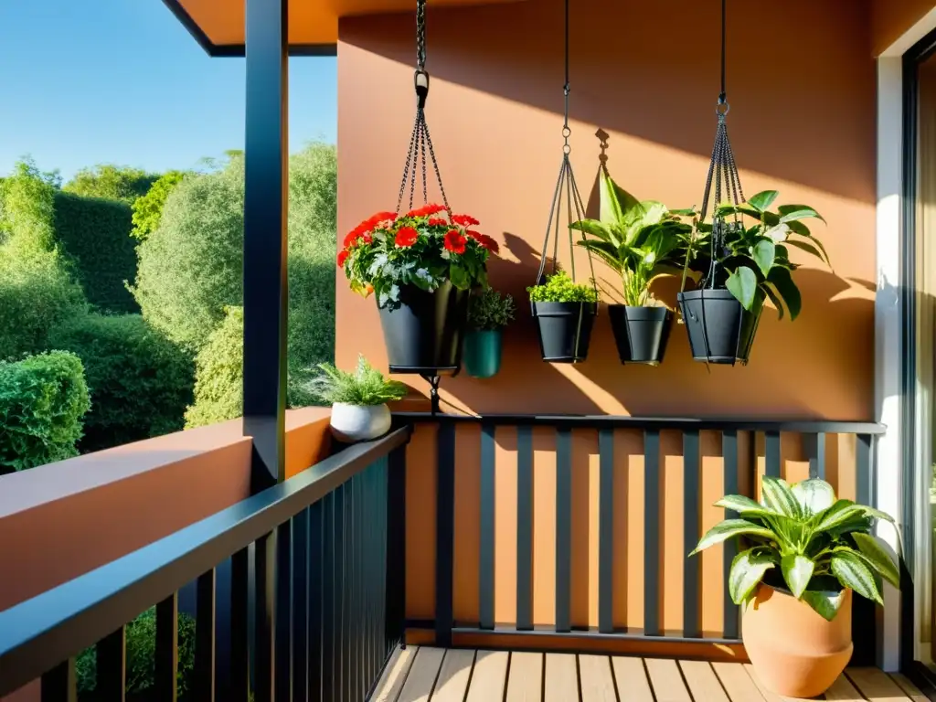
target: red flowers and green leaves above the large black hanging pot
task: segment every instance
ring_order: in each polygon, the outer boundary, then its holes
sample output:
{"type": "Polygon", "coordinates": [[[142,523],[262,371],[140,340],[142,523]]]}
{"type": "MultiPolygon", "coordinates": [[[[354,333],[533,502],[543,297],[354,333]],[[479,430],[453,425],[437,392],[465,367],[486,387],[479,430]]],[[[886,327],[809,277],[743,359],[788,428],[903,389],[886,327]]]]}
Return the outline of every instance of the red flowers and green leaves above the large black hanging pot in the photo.
{"type": "Polygon", "coordinates": [[[474,228],[468,214],[425,205],[398,215],[377,212],[344,238],[338,266],[351,289],[377,296],[381,306],[399,303],[400,289],[415,285],[432,292],[450,281],[460,290],[487,285],[487,262],[497,242],[474,228]]]}

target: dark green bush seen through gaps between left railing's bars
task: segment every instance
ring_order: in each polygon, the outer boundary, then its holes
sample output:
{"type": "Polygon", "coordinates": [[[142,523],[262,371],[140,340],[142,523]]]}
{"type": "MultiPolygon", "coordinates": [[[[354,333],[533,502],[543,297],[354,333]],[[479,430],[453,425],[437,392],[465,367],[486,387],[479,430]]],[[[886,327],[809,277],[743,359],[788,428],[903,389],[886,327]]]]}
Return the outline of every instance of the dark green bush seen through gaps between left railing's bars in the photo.
{"type": "MultiPolygon", "coordinates": [[[[156,609],[147,609],[126,625],[126,700],[150,702],[153,699],[156,671],[156,609]]],[[[80,702],[98,702],[95,694],[97,654],[94,648],[83,651],[75,661],[80,702]]],[[[179,699],[189,699],[192,672],[195,669],[195,619],[179,613],[179,699]]],[[[103,702],[103,700],[101,700],[103,702]]],[[[194,701],[193,701],[194,702],[194,701]]]]}

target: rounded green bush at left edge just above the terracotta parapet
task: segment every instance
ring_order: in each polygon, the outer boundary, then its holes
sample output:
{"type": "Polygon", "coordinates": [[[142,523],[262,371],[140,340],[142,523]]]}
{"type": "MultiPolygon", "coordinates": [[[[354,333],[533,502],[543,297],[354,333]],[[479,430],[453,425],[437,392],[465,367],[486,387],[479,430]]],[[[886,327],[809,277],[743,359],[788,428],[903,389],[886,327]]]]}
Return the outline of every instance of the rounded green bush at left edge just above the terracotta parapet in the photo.
{"type": "Polygon", "coordinates": [[[52,351],[0,361],[0,474],[78,455],[90,406],[77,356],[52,351]]]}

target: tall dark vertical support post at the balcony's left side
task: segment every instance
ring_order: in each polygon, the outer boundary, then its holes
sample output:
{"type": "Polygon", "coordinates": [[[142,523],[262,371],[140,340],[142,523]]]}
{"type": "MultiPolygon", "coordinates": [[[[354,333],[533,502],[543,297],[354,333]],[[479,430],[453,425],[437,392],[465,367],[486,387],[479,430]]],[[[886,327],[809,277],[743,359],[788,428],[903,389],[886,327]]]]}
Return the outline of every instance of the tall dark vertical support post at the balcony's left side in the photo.
{"type": "Polygon", "coordinates": [[[287,0],[246,0],[243,431],[253,489],[285,479],[287,0]]]}

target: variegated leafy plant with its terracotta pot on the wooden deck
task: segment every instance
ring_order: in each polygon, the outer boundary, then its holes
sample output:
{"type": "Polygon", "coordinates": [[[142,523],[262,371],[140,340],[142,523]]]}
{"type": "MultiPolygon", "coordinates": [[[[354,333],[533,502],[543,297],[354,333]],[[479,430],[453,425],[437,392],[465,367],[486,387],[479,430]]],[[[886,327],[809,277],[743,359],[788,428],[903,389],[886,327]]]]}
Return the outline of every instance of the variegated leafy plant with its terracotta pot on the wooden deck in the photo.
{"type": "Polygon", "coordinates": [[[743,605],[744,646],[767,687],[779,695],[821,695],[852,656],[852,592],[883,604],[875,574],[899,587],[899,571],[871,534],[894,519],[837,500],[824,480],[793,486],[763,478],[760,504],[728,495],[734,510],[702,537],[692,554],[729,537],[748,542],[731,564],[728,592],[743,605]]]}

